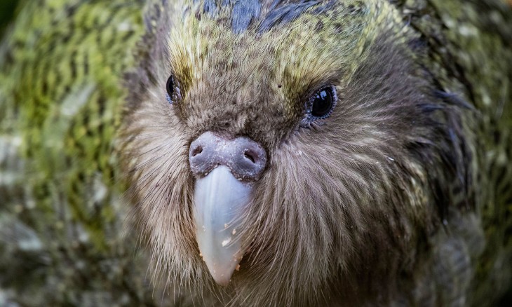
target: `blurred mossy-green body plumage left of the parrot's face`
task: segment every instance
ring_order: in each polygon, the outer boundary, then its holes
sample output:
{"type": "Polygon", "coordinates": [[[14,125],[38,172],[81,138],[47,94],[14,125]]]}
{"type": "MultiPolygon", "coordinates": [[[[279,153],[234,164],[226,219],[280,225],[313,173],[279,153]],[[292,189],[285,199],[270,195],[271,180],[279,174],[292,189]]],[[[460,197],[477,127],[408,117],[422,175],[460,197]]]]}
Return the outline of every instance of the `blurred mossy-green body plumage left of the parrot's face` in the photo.
{"type": "Polygon", "coordinates": [[[19,10],[0,47],[0,305],[151,305],[113,155],[142,1],[19,10]]]}

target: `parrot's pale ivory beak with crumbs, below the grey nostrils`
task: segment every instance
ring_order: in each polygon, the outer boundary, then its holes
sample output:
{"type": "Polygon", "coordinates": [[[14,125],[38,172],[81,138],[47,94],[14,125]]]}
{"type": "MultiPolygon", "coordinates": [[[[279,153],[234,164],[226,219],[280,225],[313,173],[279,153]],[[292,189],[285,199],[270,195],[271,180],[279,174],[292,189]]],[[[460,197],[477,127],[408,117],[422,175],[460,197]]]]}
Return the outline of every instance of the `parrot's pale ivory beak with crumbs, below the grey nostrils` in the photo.
{"type": "Polygon", "coordinates": [[[241,214],[249,203],[251,187],[219,165],[196,180],[194,219],[196,240],[210,274],[227,285],[243,257],[241,214]]]}

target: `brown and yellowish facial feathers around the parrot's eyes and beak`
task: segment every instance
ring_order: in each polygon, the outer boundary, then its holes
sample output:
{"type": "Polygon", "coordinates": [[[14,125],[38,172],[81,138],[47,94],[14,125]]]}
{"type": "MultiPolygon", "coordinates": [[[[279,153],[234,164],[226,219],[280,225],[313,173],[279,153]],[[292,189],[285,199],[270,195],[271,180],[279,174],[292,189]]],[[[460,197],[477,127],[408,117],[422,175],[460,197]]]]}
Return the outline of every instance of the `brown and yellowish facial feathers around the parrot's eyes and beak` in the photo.
{"type": "Polygon", "coordinates": [[[471,110],[435,95],[393,9],[353,1],[242,34],[222,9],[181,23],[167,14],[127,76],[121,136],[158,270],[234,305],[397,299],[398,274],[415,274],[416,255],[429,249],[418,242],[472,175],[462,123],[471,110]],[[172,105],[170,74],[180,90],[172,105]],[[305,102],[330,85],[334,112],[302,127],[305,102]],[[269,156],[244,213],[249,251],[227,289],[213,285],[194,238],[188,149],[206,131],[250,137],[269,156]]]}

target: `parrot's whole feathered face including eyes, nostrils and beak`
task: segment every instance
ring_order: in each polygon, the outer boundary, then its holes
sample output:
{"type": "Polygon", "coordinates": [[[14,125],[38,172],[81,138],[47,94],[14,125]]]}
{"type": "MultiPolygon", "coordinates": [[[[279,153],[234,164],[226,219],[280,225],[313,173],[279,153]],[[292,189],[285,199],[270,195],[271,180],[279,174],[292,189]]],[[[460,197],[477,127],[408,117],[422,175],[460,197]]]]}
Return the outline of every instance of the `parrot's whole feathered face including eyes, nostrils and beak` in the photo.
{"type": "Polygon", "coordinates": [[[123,156],[157,268],[255,306],[382,280],[433,220],[408,151],[436,137],[429,84],[396,13],[288,5],[243,29],[235,5],[154,8],[127,76],[123,156]]]}

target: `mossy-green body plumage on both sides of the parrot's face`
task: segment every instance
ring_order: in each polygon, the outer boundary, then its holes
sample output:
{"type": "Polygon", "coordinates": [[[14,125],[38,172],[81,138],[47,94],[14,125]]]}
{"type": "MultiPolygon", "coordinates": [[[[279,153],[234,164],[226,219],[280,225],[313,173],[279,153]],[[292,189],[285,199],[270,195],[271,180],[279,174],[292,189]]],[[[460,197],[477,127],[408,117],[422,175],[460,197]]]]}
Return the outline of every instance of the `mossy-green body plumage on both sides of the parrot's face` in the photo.
{"type": "MultiPolygon", "coordinates": [[[[172,295],[162,299],[149,285],[137,234],[123,228],[129,200],[116,139],[123,74],[144,57],[144,41],[136,46],[144,14],[151,27],[160,4],[149,2],[21,1],[4,32],[0,306],[172,305],[172,295]]],[[[476,110],[468,114],[483,185],[472,189],[487,245],[470,303],[483,306],[510,278],[512,261],[512,8],[500,0],[389,2],[396,23],[429,45],[418,60],[434,72],[428,77],[476,110]]],[[[189,302],[180,295],[175,303],[189,302]]]]}

